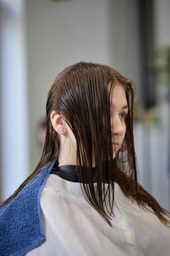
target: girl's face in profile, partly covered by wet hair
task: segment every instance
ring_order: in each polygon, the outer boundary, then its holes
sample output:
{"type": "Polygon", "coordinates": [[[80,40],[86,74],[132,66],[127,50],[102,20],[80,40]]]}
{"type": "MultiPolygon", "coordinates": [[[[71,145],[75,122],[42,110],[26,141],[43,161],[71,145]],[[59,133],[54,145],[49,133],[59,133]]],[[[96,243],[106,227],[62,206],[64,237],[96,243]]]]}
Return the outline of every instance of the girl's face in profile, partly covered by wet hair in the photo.
{"type": "Polygon", "coordinates": [[[125,96],[125,90],[120,83],[117,83],[113,89],[110,108],[113,158],[115,158],[125,138],[125,117],[128,114],[128,102],[125,96]]]}

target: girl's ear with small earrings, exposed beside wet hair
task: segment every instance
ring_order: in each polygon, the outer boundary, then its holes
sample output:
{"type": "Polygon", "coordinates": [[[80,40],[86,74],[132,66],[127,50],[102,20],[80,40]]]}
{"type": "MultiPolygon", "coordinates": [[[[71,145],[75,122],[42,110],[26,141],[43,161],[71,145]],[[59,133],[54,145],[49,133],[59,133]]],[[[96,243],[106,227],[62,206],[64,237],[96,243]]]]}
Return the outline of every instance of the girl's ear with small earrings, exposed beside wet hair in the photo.
{"type": "Polygon", "coordinates": [[[50,114],[50,120],[51,120],[53,129],[55,129],[55,132],[57,132],[59,135],[66,135],[65,123],[60,114],[58,114],[55,110],[53,110],[52,113],[50,114]]]}

